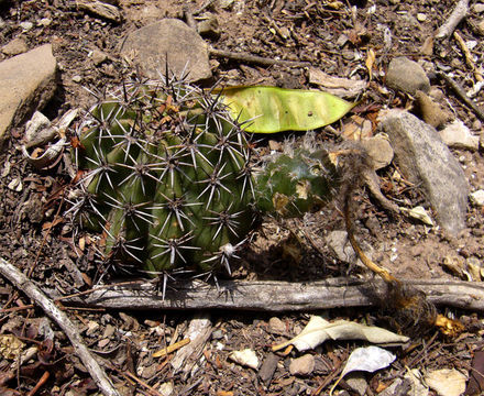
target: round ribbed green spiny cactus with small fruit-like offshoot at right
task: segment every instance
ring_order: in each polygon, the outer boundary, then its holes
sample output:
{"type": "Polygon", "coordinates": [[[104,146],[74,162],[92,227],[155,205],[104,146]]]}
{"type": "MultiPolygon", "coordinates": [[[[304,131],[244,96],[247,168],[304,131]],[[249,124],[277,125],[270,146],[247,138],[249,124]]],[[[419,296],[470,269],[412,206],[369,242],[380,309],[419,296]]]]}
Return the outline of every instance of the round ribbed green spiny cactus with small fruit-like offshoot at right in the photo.
{"type": "Polygon", "coordinates": [[[226,267],[257,213],[299,216],[328,201],[338,173],[323,150],[298,148],[254,172],[238,121],[183,81],[125,84],[79,123],[80,182],[68,213],[101,234],[101,257],[157,275],[226,267]]]}

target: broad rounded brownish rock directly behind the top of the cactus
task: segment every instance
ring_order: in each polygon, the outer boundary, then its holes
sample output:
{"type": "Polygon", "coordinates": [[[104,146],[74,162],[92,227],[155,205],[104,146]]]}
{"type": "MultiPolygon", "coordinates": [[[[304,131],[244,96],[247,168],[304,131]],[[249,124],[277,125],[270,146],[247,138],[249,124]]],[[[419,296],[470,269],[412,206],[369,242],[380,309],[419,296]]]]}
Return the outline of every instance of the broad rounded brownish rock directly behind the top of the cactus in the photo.
{"type": "Polygon", "coordinates": [[[204,40],[176,19],[164,19],[130,33],[121,54],[138,64],[150,78],[160,78],[158,73],[165,72],[166,56],[176,76],[189,72],[190,81],[211,77],[204,40]]]}

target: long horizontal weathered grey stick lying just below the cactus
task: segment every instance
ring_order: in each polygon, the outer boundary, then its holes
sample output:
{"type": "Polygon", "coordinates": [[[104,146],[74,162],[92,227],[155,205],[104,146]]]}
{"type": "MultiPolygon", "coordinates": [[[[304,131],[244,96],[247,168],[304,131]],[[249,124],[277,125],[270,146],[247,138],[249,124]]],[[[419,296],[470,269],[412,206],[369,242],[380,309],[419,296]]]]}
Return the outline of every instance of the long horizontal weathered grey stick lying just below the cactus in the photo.
{"type": "MultiPolygon", "coordinates": [[[[460,280],[403,279],[421,289],[439,306],[484,310],[484,285],[460,280]]],[[[165,299],[153,284],[102,288],[88,296],[63,299],[64,304],[108,309],[233,309],[251,311],[309,311],[363,307],[385,298],[381,279],[333,278],[311,283],[223,280],[219,288],[200,280],[173,285],[165,299]]]]}

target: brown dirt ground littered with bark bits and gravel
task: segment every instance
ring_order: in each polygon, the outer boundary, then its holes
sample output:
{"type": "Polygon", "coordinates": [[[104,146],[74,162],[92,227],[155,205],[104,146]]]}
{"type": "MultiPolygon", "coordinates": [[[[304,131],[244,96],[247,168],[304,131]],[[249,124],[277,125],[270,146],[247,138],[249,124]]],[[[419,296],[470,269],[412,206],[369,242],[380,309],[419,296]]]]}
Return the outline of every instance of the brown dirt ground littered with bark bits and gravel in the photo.
{"type": "MultiPolygon", "coordinates": [[[[119,85],[120,70],[127,67],[119,55],[125,34],[161,18],[183,18],[184,6],[188,6],[200,20],[209,13],[217,18],[220,34],[205,38],[217,50],[309,62],[312,67],[330,75],[360,76],[361,79],[369,78],[365,61],[372,50],[376,54],[373,79],[358,107],[360,110],[355,111],[359,117],[372,121],[373,130],[376,129],[376,116],[381,109],[410,109],[413,106],[411,97],[394,92],[385,86],[385,70],[393,57],[407,56],[418,61],[430,76],[436,70],[452,72],[454,79],[465,89],[471,88],[472,81],[475,81],[473,70],[452,37],[436,42],[430,55],[422,54],[426,38],[432,36],[449,18],[454,6],[454,1],[450,0],[220,0],[212,1],[200,13],[196,11],[204,6],[201,0],[109,2],[121,11],[121,23],[86,12],[76,7],[76,1],[0,2],[0,46],[15,37],[25,40],[29,50],[45,43],[53,45],[59,77],[56,96],[44,110],[51,120],[62,117],[68,109],[91,103],[92,98],[84,87],[102,89],[119,85]],[[42,24],[40,20],[50,22],[42,24]],[[32,22],[33,26],[25,31],[21,26],[22,22],[32,22]],[[388,32],[392,34],[391,46],[385,45],[388,32]],[[105,52],[108,58],[95,65],[88,56],[95,50],[105,52]]],[[[464,41],[476,42],[472,54],[477,66],[484,58],[484,33],[479,28],[483,15],[471,7],[466,20],[458,26],[464,41]]],[[[2,57],[8,56],[0,55],[0,59],[2,57]]],[[[221,84],[229,85],[315,88],[308,84],[308,69],[305,67],[267,67],[224,58],[211,58],[210,63],[213,80],[206,85],[221,80],[221,84]]],[[[432,79],[432,85],[442,92],[439,103],[462,120],[474,134],[481,134],[482,123],[475,113],[443,82],[432,79]]],[[[482,91],[474,100],[484,106],[482,91]]],[[[350,122],[350,118],[351,114],[331,128],[317,131],[318,139],[341,141],[340,132],[350,122]]],[[[21,270],[32,270],[32,278],[45,289],[56,290],[61,295],[88,290],[99,279],[99,268],[91,255],[94,242],[89,239],[73,239],[70,228],[62,218],[65,210],[62,191],[70,178],[63,162],[44,170],[29,165],[20,151],[23,132],[22,128],[12,131],[0,156],[0,256],[21,270]]],[[[277,150],[287,136],[285,133],[263,138],[258,148],[262,152],[277,150]]],[[[300,136],[301,133],[298,133],[295,139],[300,136]]],[[[483,188],[482,152],[458,150],[453,153],[464,168],[471,189],[483,188]]],[[[408,208],[421,205],[431,213],[418,186],[405,179],[396,179],[396,170],[395,164],[378,170],[384,195],[408,208]]],[[[407,217],[388,213],[365,188],[361,189],[355,199],[360,241],[371,246],[375,262],[396,276],[469,280],[469,271],[462,271],[465,270],[465,263],[472,260],[482,264],[482,208],[470,206],[466,230],[459,238],[450,238],[437,227],[430,228],[410,221],[407,217]],[[458,270],[452,272],[443,265],[449,262],[457,263],[454,268],[458,270]]],[[[305,282],[337,276],[369,276],[365,270],[338,260],[326,243],[326,237],[331,231],[343,229],[344,223],[336,204],[304,220],[286,223],[267,220],[253,235],[246,253],[234,263],[233,277],[305,282]],[[294,249],[297,254],[294,254],[294,249]]],[[[107,276],[102,282],[114,280],[119,279],[107,276]]],[[[473,280],[481,282],[480,278],[473,280]]],[[[0,314],[0,333],[15,334],[25,348],[40,348],[40,352],[18,365],[12,365],[12,359],[2,353],[0,394],[98,393],[65,334],[45,319],[40,308],[26,306],[31,301],[4,279],[0,279],[0,299],[4,308],[0,314]],[[54,343],[45,341],[52,332],[54,343]],[[45,372],[50,373],[48,380],[34,393],[29,393],[33,392],[45,372]]],[[[363,376],[367,384],[366,394],[378,394],[402,378],[407,369],[418,369],[422,373],[436,369],[458,369],[470,375],[472,358],[483,346],[482,314],[447,307],[439,307],[439,311],[460,318],[465,331],[458,338],[449,339],[431,330],[413,338],[404,348],[393,349],[398,359],[388,369],[363,376]]],[[[123,395],[324,395],[341,372],[349,353],[364,344],[360,341],[331,341],[307,352],[316,362],[307,375],[293,375],[289,371],[290,362],[304,353],[292,351],[287,355],[276,355],[275,373],[264,382],[260,370],[231,362],[228,359],[230,352],[252,349],[261,361],[265,361],[272,354],[272,344],[300,332],[308,321],[309,312],[146,312],[74,308],[67,308],[66,312],[78,326],[88,346],[103,360],[107,373],[123,395]],[[153,352],[185,339],[189,322],[197,315],[210,317],[213,324],[210,338],[202,354],[198,356],[197,369],[175,372],[169,364],[174,354],[154,358],[153,352]],[[140,385],[127,373],[136,376],[157,393],[140,385]]],[[[383,314],[375,308],[345,308],[316,314],[328,319],[343,318],[388,326],[385,320],[387,312],[383,314]]],[[[341,388],[346,395],[358,394],[344,381],[341,388]]],[[[395,394],[405,395],[408,388],[398,392],[395,394]]],[[[430,394],[435,394],[435,391],[430,391],[430,394]]]]}

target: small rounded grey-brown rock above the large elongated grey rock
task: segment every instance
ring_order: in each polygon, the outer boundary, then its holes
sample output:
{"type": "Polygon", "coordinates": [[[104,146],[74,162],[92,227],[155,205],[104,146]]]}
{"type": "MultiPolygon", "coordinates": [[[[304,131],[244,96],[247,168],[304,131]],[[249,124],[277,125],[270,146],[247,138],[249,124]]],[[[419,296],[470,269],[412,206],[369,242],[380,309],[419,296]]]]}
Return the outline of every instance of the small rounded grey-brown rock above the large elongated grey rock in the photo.
{"type": "Polygon", "coordinates": [[[429,78],[421,66],[405,56],[391,61],[386,74],[386,85],[392,89],[410,95],[415,95],[418,90],[426,94],[430,90],[429,78]]]}

